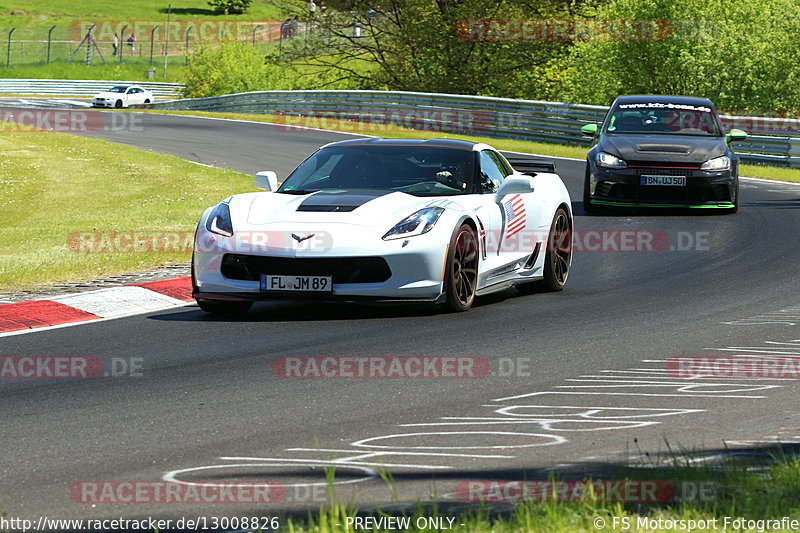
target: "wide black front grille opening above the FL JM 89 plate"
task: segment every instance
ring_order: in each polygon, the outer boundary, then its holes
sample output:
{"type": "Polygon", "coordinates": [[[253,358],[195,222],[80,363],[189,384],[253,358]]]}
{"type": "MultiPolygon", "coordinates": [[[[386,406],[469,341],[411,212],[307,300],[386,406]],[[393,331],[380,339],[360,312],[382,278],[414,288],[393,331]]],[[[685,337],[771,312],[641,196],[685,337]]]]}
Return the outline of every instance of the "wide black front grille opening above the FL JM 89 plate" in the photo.
{"type": "Polygon", "coordinates": [[[225,254],[222,275],[228,279],[259,281],[261,274],[332,276],[333,283],[381,283],[392,271],[383,257],[269,257],[225,254]]]}

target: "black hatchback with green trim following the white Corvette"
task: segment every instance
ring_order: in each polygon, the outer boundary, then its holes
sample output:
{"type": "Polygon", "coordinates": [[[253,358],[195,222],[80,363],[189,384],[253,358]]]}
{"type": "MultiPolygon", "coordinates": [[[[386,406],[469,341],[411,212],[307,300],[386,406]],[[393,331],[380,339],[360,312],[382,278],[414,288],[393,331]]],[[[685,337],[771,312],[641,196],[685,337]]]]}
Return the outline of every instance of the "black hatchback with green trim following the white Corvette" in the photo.
{"type": "Polygon", "coordinates": [[[600,206],[739,207],[739,158],[714,104],[706,98],[620,96],[602,125],[581,131],[595,138],[587,154],[584,210],[600,206]]]}

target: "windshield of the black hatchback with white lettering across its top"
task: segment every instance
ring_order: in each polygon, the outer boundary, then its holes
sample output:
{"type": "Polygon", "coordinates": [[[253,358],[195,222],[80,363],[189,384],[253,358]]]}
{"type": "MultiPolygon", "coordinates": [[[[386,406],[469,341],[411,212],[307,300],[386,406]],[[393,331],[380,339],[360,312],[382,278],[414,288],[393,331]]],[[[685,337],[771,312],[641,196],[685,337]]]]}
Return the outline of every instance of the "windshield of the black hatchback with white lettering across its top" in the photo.
{"type": "Polygon", "coordinates": [[[606,133],[722,135],[711,108],[659,102],[619,104],[609,118],[606,133]]]}

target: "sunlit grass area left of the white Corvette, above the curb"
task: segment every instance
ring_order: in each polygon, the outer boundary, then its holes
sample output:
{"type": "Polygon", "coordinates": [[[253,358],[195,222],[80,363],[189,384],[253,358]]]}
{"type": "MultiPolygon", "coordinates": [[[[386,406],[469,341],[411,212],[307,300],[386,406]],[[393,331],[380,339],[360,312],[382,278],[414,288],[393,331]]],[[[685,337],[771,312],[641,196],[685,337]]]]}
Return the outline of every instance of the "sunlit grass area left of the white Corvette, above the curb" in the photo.
{"type": "Polygon", "coordinates": [[[206,207],[252,190],[249,176],[230,170],[69,134],[8,129],[0,136],[0,290],[187,261],[190,248],[79,253],[68,243],[76,232],[190,236],[206,207]]]}

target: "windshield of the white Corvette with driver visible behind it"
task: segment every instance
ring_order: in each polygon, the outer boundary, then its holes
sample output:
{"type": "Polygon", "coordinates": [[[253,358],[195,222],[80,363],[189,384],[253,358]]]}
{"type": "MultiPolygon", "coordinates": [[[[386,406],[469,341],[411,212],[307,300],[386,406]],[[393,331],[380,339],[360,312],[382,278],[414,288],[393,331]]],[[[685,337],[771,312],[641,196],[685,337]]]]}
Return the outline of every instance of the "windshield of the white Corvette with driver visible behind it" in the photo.
{"type": "Polygon", "coordinates": [[[324,148],[286,178],[278,192],[374,189],[414,196],[472,192],[474,154],[469,150],[415,146],[324,148]]]}

